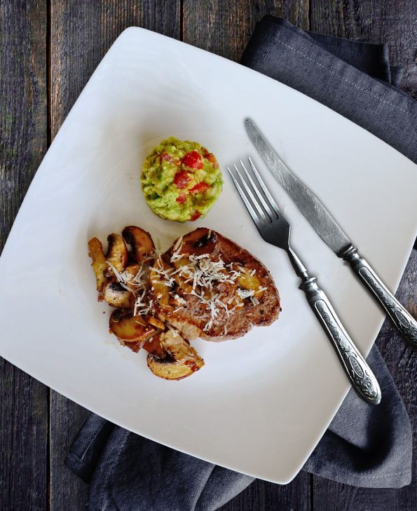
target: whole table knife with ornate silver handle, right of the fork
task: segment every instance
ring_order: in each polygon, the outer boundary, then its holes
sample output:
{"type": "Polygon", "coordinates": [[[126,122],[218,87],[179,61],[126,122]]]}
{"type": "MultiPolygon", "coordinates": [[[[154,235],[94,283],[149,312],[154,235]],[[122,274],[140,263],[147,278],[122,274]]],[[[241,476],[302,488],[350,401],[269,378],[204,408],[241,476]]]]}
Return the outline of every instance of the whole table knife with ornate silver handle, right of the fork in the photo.
{"type": "Polygon", "coordinates": [[[357,277],[388,314],[404,339],[417,347],[417,321],[395,299],[371,265],[358,254],[348,236],[320,200],[289,170],[252,119],[245,120],[245,128],[272,175],[287,191],[316,233],[338,257],[350,264],[357,277]]]}

